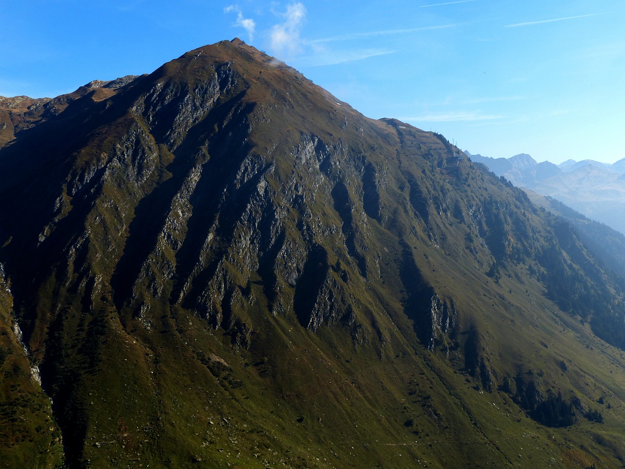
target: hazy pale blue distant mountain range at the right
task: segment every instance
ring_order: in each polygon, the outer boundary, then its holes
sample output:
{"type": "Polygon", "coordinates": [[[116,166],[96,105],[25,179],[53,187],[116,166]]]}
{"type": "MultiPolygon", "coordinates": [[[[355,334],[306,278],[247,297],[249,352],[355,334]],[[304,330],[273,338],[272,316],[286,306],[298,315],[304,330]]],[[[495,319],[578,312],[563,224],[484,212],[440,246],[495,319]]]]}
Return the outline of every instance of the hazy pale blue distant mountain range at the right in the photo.
{"type": "Polygon", "coordinates": [[[625,233],[625,158],[614,164],[568,159],[556,165],[549,161],[537,163],[525,153],[512,158],[464,153],[474,163],[486,165],[516,186],[551,196],[588,218],[625,233]]]}

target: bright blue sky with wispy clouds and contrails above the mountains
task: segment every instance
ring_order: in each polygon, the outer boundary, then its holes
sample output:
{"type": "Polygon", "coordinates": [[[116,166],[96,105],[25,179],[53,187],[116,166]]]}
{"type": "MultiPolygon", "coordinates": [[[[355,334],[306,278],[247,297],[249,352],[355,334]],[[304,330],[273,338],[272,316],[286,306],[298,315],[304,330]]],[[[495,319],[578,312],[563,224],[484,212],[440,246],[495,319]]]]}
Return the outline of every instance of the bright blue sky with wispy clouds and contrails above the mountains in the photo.
{"type": "Polygon", "coordinates": [[[495,158],[625,158],[622,0],[22,0],[0,95],[58,96],[239,37],[371,118],[495,158]]]}

